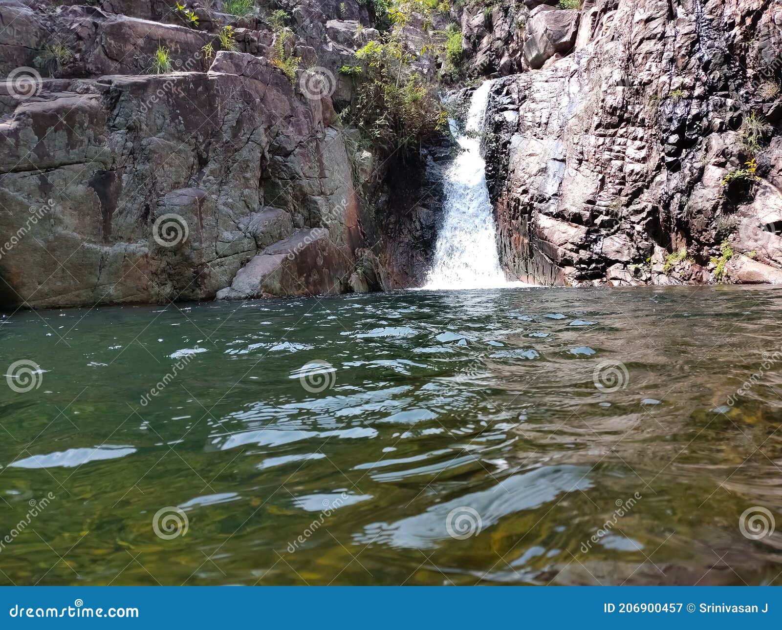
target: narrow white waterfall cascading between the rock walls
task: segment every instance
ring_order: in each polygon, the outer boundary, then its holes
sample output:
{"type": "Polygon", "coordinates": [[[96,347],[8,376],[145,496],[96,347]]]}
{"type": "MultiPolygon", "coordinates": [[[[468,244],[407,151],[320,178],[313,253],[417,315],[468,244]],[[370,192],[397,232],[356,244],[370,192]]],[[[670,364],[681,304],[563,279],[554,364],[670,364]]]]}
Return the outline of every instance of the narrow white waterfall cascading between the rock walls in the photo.
{"type": "Polygon", "coordinates": [[[496,288],[510,284],[500,267],[497,226],[486,188],[486,163],[480,156],[480,140],[475,138],[483,126],[491,84],[485,81],[473,93],[465,135],[457,138],[463,151],[445,176],[445,217],[424,288],[496,288]]]}

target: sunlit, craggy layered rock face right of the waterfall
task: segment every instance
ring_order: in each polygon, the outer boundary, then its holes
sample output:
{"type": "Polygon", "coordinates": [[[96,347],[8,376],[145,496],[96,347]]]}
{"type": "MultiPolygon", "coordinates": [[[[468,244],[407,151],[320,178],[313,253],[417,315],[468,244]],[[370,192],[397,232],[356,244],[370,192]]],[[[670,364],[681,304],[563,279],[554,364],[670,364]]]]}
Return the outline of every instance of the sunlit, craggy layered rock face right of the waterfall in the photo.
{"type": "Polygon", "coordinates": [[[782,281],[778,2],[541,5],[519,38],[504,54],[522,71],[493,84],[484,138],[512,274],[782,281]]]}

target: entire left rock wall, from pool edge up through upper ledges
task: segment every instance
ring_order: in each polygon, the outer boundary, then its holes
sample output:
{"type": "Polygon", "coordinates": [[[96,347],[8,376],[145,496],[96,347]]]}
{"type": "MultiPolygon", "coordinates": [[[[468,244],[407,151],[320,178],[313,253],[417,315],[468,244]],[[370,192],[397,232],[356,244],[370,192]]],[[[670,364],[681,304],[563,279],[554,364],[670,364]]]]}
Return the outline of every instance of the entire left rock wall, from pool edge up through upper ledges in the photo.
{"type": "MultiPolygon", "coordinates": [[[[363,9],[332,5],[292,8],[289,54],[332,66],[352,55],[325,33],[341,41],[363,9]]],[[[230,16],[193,13],[198,29],[156,0],[0,5],[0,307],[387,286],[361,199],[380,176],[355,180],[353,145],[334,126],[330,94],[350,85],[323,85],[329,66],[286,77],[256,18],[232,19],[244,25],[235,51],[206,55],[230,16]],[[17,72],[54,41],[71,53],[62,78],[17,72]],[[160,45],[170,71],[152,74],[160,45]]]]}

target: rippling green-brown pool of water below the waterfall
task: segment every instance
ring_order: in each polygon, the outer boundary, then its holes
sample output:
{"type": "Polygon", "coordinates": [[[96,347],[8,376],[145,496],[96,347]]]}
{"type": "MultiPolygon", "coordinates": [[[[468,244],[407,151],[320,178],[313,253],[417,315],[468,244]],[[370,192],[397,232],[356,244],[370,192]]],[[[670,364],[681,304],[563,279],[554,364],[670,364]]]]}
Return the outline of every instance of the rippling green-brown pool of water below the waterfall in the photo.
{"type": "Polygon", "coordinates": [[[0,381],[0,584],[780,584],[782,533],[739,527],[782,528],[780,315],[719,287],[14,313],[2,367],[42,371],[0,381]]]}

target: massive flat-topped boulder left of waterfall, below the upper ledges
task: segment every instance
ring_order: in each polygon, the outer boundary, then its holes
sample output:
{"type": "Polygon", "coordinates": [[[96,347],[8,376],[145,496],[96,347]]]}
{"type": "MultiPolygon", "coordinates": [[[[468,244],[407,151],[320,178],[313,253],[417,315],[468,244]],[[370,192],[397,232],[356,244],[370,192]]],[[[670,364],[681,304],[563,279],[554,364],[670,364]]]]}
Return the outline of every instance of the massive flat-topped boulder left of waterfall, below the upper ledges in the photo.
{"type": "Polygon", "coordinates": [[[307,250],[278,285],[347,290],[363,241],[325,109],[240,52],[208,73],[46,82],[0,124],[0,233],[23,232],[0,257],[5,306],[210,299],[294,227],[324,224],[331,285],[310,281],[307,250]]]}

